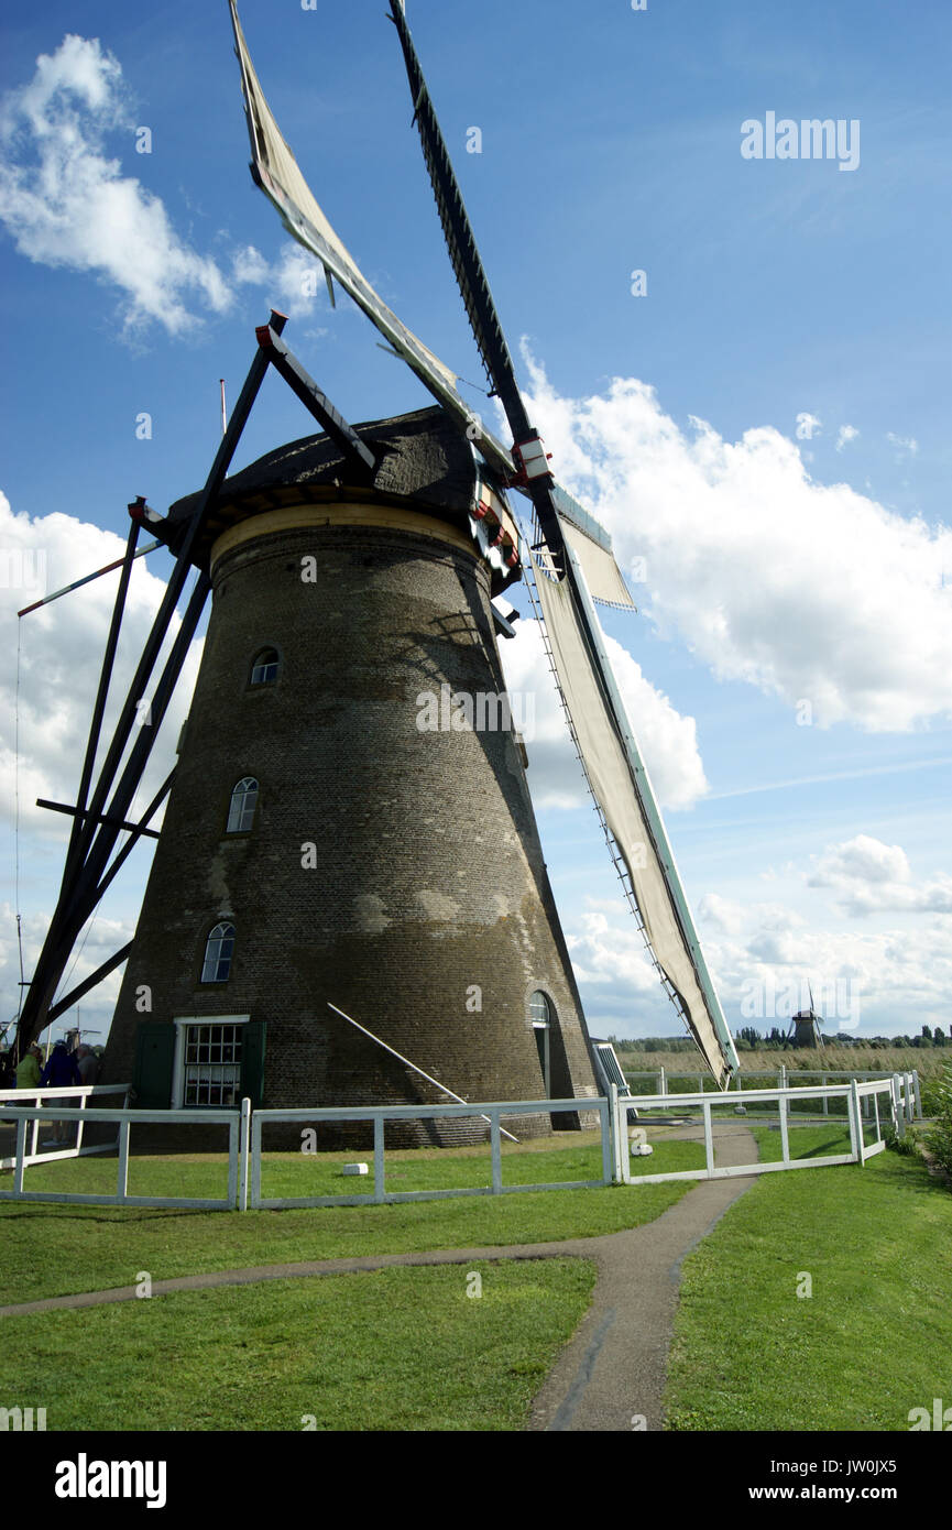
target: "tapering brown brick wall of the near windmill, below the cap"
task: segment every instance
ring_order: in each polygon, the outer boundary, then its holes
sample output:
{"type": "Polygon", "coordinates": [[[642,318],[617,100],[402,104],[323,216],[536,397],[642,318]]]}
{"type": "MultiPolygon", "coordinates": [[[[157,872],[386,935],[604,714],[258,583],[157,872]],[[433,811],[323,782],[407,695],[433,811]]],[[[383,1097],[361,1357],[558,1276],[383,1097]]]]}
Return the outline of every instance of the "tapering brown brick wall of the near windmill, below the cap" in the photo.
{"type": "MultiPolygon", "coordinates": [[[[517,741],[510,730],[418,727],[421,693],[504,692],[487,565],[441,540],[438,522],[430,537],[328,525],[312,511],[314,525],[265,531],[214,565],[104,1082],[130,1077],[144,1019],[248,1014],[266,1022],[265,1106],[445,1103],[332,1014],[332,1001],[468,1100],[543,1099],[530,1019],[542,988],[553,1095],[592,1095],[517,741]],[[311,557],[317,575],[306,581],[311,557]],[[265,647],[280,655],[277,682],[251,687],[265,647]],[[254,826],[227,834],[243,776],[260,785],[254,826]],[[302,864],[305,846],[314,868],[302,864]],[[204,984],[207,935],[225,916],[236,927],[231,975],[204,984]],[[148,1014],[136,1010],[142,985],[148,1014]]],[[[527,1134],[548,1129],[543,1115],[522,1123],[527,1134]]],[[[406,1134],[473,1137],[485,1128],[406,1134]]]]}

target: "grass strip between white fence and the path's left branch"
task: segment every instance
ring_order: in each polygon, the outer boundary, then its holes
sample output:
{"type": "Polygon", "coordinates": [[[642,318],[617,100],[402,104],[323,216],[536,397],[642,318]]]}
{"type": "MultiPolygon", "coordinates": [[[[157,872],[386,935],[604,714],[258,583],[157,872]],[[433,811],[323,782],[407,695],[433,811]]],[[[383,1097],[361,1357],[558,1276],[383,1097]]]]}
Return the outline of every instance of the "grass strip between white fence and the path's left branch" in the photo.
{"type": "MultiPolygon", "coordinates": [[[[504,1183],[516,1183],[511,1175],[522,1172],[540,1181],[565,1178],[563,1155],[589,1151],[585,1144],[577,1149],[531,1146],[525,1149],[523,1166],[519,1167],[513,1149],[504,1163],[504,1183]]],[[[425,1158],[432,1157],[441,1161],[441,1172],[450,1174],[452,1169],[444,1166],[455,1160],[459,1164],[456,1172],[468,1175],[474,1152],[479,1154],[479,1149],[395,1152],[387,1154],[387,1164],[392,1158],[399,1167],[401,1160],[407,1160],[413,1167],[416,1160],[415,1174],[424,1174],[430,1172],[425,1158]]],[[[286,1183],[285,1193],[315,1193],[309,1189],[318,1172],[314,1160],[300,1154],[286,1155],[286,1160],[274,1166],[277,1178],[269,1184],[265,1181],[268,1189],[286,1183]]],[[[703,1151],[696,1143],[660,1143],[654,1158],[646,1161],[661,1170],[696,1167],[703,1163],[703,1151]]],[[[222,1160],[208,1161],[197,1155],[147,1157],[130,1166],[130,1189],[141,1195],[222,1193],[223,1178],[222,1160]]],[[[9,1177],[5,1180],[9,1183],[9,1177]]],[[[86,1190],[99,1183],[115,1184],[115,1160],[73,1158],[26,1170],[28,1189],[86,1190]]],[[[337,1180],[335,1184],[352,1189],[357,1181],[337,1180]]],[[[690,1181],[686,1181],[282,1212],[5,1201],[0,1203],[0,1302],[132,1285],[139,1270],[148,1270],[153,1281],[162,1281],[298,1259],[594,1238],[654,1221],[690,1189],[690,1181]]]]}

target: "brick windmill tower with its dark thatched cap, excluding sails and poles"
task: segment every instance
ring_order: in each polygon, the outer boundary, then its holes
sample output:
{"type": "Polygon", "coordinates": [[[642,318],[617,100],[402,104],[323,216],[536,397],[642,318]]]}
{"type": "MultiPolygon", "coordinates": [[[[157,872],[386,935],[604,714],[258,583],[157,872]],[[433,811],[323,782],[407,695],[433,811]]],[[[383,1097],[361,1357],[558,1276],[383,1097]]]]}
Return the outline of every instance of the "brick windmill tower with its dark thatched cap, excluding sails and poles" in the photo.
{"type": "MultiPolygon", "coordinates": [[[[211,617],[109,1076],[445,1103],[334,1002],[465,1099],[594,1094],[496,646],[516,525],[444,410],[335,435],[228,479],[193,542],[211,617]]],[[[153,523],[173,549],[196,499],[153,523]]]]}

